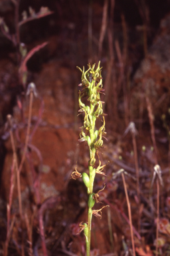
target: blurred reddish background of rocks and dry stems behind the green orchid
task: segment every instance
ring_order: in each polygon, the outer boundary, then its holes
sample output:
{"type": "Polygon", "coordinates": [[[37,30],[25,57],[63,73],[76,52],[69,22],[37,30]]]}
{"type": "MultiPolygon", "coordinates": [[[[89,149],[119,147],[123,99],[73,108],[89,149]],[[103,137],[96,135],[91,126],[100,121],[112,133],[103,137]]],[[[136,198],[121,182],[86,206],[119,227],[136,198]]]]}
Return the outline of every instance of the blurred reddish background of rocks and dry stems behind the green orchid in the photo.
{"type": "Polygon", "coordinates": [[[1,0],[0,17],[0,255],[44,255],[44,244],[46,255],[85,255],[77,233],[86,221],[86,188],[70,179],[89,160],[86,143],[78,143],[82,74],[76,66],[88,69],[98,61],[108,139],[100,159],[107,177],[96,175],[94,189],[106,183],[101,201],[110,209],[101,220],[94,217],[92,255],[132,255],[124,187],[121,177],[113,179],[120,168],[137,178],[126,177],[137,255],[155,255],[158,239],[159,254],[169,255],[170,1],[1,0]],[[11,131],[21,163],[31,82],[38,97],[20,173],[21,221],[11,131]],[[164,184],[159,237],[157,186],[151,186],[157,164],[164,184]]]}

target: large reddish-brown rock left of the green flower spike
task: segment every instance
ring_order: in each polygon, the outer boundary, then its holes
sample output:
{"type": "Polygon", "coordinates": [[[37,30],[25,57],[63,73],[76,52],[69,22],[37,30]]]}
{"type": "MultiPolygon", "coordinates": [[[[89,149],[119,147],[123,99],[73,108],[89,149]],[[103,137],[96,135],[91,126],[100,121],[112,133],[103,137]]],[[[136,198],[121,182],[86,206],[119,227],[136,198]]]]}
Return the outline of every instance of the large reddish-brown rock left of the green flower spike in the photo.
{"type": "MultiPolygon", "coordinates": [[[[33,192],[35,178],[39,175],[39,193],[41,203],[48,197],[58,195],[64,185],[70,180],[72,165],[74,165],[74,151],[78,135],[74,131],[74,74],[70,69],[58,67],[55,62],[44,65],[41,73],[35,79],[37,91],[44,101],[44,111],[40,125],[33,136],[29,147],[31,163],[35,168],[35,176],[31,174],[31,164],[25,161],[21,171],[21,193],[23,205],[29,207],[30,196],[33,192]],[[40,161],[42,157],[42,165],[40,161]],[[40,172],[41,170],[41,172],[40,172]],[[69,174],[69,175],[68,175],[69,174]]],[[[34,99],[31,132],[39,115],[41,101],[34,99]]],[[[29,113],[29,97],[24,105],[25,120],[29,113]]],[[[13,115],[19,127],[19,137],[25,142],[26,128],[21,121],[19,108],[15,107],[13,115]]],[[[13,152],[10,138],[5,143],[7,155],[3,167],[1,192],[3,199],[9,201],[11,165],[13,152]]],[[[15,145],[21,144],[15,139],[15,145]]],[[[21,158],[22,152],[18,157],[21,158]]],[[[21,159],[20,159],[21,161],[21,159]]],[[[18,207],[17,183],[13,195],[13,207],[18,207]]],[[[34,199],[36,201],[36,198],[34,199]]]]}

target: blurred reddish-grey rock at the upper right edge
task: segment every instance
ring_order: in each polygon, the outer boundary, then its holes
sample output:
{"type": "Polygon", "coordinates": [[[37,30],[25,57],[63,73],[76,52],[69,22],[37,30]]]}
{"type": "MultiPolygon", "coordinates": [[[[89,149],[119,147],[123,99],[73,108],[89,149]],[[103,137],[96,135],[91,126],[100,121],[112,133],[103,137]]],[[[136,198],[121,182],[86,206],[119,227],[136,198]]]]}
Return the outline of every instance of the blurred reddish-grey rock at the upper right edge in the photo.
{"type": "Polygon", "coordinates": [[[158,35],[148,50],[147,56],[133,77],[131,108],[139,117],[139,108],[145,96],[149,97],[155,115],[167,112],[170,100],[170,14],[161,20],[158,35]]]}

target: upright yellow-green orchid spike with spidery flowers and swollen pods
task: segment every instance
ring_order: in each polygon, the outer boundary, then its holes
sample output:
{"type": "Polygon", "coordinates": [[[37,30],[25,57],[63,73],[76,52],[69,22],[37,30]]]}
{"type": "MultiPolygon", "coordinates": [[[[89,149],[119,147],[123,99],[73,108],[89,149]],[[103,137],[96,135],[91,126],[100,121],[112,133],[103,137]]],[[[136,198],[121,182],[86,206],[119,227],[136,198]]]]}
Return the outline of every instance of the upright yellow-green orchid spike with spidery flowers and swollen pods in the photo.
{"type": "MultiPolygon", "coordinates": [[[[106,1],[107,3],[107,1],[106,1]]],[[[100,93],[104,91],[102,89],[102,75],[101,75],[101,68],[100,68],[100,62],[98,63],[98,67],[96,70],[94,70],[95,65],[90,66],[88,65],[89,69],[84,72],[80,69],[82,72],[82,83],[80,83],[80,87],[82,87],[82,91],[79,91],[79,106],[80,110],[79,112],[84,112],[84,126],[80,127],[82,129],[80,133],[80,139],[79,141],[87,141],[88,147],[89,147],[89,155],[90,155],[90,161],[88,161],[88,169],[89,169],[89,176],[87,173],[78,173],[78,171],[74,171],[72,173],[73,179],[76,177],[82,177],[84,184],[87,187],[87,193],[88,193],[88,224],[87,223],[80,223],[80,231],[84,230],[84,235],[86,237],[86,255],[90,256],[90,241],[91,241],[91,229],[92,229],[92,215],[96,215],[97,217],[101,217],[101,211],[100,210],[93,210],[92,207],[94,207],[94,203],[96,203],[98,194],[93,193],[93,187],[94,187],[94,178],[96,173],[105,175],[102,170],[104,169],[104,166],[101,166],[101,161],[99,159],[99,165],[97,168],[94,168],[96,163],[96,153],[98,153],[98,150],[103,145],[102,136],[105,134],[105,119],[104,119],[104,113],[102,109],[102,104],[104,102],[100,101],[100,93]],[[88,101],[90,104],[85,105],[82,103],[81,98],[87,96],[88,101]],[[90,105],[90,106],[89,106],[90,105]],[[96,130],[96,119],[100,119],[100,116],[103,117],[103,125],[100,127],[99,130],[96,130]],[[85,130],[85,132],[84,132],[85,130]],[[100,213],[98,213],[100,212],[100,213]]],[[[98,201],[97,201],[98,202],[98,201]]],[[[103,207],[104,208],[104,207],[103,207]]]]}

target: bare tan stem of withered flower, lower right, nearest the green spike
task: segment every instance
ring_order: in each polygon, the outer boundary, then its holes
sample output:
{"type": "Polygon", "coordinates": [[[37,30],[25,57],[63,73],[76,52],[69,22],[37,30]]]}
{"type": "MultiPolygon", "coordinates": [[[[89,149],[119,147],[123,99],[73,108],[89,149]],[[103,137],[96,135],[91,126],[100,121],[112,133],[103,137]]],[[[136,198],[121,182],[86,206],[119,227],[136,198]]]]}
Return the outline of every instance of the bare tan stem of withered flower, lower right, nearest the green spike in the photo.
{"type": "Polygon", "coordinates": [[[132,220],[131,220],[131,208],[130,208],[128,191],[127,191],[127,187],[126,187],[126,181],[125,181],[124,173],[122,173],[122,179],[123,179],[123,183],[124,183],[126,201],[127,201],[127,204],[128,204],[128,214],[129,214],[129,223],[130,223],[130,233],[131,233],[131,244],[132,244],[132,249],[133,249],[133,256],[135,256],[135,243],[134,243],[134,237],[133,237],[133,225],[132,225],[132,220]]]}

